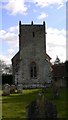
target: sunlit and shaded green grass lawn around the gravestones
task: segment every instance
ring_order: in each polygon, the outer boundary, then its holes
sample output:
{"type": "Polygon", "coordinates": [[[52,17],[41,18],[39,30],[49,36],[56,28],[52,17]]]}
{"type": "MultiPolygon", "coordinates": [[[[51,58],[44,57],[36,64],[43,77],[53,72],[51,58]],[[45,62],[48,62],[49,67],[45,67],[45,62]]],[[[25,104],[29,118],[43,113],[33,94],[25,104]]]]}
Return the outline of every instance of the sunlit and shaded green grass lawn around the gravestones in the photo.
{"type": "MultiPolygon", "coordinates": [[[[2,116],[3,120],[23,120],[26,118],[26,107],[33,101],[40,89],[23,90],[23,94],[11,94],[2,97],[2,116]]],[[[58,99],[52,99],[52,89],[45,90],[45,97],[57,106],[59,118],[68,118],[67,107],[67,90],[60,89],[58,99]]]]}

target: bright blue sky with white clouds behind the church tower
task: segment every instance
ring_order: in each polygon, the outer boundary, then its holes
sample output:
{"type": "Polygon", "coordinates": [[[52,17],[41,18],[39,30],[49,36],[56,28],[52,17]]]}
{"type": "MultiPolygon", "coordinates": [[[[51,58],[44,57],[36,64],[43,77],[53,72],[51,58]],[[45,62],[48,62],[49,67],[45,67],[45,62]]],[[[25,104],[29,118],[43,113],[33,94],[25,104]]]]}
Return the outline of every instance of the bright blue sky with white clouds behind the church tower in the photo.
{"type": "Polygon", "coordinates": [[[11,63],[19,50],[18,29],[22,24],[46,23],[46,51],[52,62],[66,60],[67,0],[0,0],[0,59],[11,63]]]}

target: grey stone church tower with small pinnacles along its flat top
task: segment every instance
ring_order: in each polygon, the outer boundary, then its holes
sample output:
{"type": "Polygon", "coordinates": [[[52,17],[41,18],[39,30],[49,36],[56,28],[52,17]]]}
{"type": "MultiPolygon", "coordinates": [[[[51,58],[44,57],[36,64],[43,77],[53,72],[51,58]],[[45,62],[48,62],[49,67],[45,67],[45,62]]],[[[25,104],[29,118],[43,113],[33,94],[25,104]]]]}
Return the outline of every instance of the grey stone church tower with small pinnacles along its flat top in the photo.
{"type": "Polygon", "coordinates": [[[51,80],[46,54],[45,22],[19,22],[19,52],[12,58],[12,66],[15,84],[44,85],[51,80]]]}

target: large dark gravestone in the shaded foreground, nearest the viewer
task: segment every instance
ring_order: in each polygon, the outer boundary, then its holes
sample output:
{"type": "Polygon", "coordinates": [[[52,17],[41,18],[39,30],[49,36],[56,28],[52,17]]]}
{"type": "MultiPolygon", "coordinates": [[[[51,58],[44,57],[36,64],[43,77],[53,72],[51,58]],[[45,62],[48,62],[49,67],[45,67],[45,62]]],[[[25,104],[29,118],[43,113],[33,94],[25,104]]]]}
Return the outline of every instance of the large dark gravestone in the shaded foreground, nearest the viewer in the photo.
{"type": "Polygon", "coordinates": [[[37,99],[27,106],[27,120],[57,120],[56,106],[39,94],[37,99]]]}

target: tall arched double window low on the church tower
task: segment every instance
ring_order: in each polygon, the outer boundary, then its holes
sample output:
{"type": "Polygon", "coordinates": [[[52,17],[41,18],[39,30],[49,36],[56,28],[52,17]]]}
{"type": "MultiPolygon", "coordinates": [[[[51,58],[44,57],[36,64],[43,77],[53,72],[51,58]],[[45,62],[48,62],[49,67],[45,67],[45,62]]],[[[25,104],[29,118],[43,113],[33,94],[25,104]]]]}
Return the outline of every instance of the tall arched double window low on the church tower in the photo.
{"type": "Polygon", "coordinates": [[[30,64],[30,77],[31,78],[37,78],[37,68],[36,68],[36,63],[32,62],[30,64]]]}

